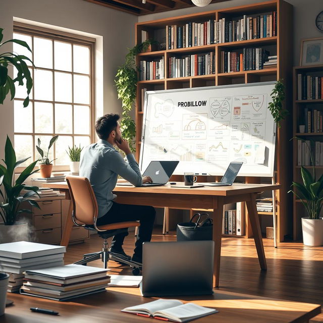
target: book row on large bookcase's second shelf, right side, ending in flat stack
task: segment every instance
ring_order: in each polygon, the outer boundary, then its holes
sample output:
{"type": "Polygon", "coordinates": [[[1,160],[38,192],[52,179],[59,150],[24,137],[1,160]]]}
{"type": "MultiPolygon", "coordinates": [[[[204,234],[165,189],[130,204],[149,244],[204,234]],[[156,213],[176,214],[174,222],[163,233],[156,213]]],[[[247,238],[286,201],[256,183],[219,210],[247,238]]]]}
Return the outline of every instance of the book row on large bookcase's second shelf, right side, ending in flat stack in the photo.
{"type": "Polygon", "coordinates": [[[277,66],[277,56],[269,55],[270,53],[263,48],[243,48],[241,53],[221,51],[221,73],[275,68],[277,66]]]}

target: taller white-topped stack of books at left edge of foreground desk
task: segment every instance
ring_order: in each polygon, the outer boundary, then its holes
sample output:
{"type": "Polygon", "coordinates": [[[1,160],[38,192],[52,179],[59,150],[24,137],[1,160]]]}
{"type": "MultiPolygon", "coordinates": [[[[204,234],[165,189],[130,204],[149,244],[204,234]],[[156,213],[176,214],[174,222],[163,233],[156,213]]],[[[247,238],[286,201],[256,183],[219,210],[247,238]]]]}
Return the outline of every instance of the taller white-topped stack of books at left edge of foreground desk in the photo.
{"type": "Polygon", "coordinates": [[[65,247],[27,241],[0,244],[0,271],[9,274],[8,292],[20,289],[26,270],[63,265],[64,252],[65,247]]]}

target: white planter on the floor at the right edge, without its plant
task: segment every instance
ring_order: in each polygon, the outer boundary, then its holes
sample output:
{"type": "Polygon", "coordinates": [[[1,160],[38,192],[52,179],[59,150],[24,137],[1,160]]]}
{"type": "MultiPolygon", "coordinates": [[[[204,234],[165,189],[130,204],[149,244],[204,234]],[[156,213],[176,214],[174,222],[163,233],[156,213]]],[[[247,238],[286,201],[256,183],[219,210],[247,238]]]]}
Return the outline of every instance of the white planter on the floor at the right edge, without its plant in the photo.
{"type": "Polygon", "coordinates": [[[323,246],[323,218],[302,218],[302,231],[305,246],[323,246]]]}

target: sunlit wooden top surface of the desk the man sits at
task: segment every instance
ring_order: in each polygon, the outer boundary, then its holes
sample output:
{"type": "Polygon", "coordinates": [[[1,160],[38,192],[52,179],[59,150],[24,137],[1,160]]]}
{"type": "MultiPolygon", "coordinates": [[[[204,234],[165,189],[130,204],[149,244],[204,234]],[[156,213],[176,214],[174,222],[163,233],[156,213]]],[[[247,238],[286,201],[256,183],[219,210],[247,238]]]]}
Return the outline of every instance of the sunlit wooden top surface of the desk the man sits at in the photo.
{"type": "MultiPolygon", "coordinates": [[[[177,185],[184,183],[177,182],[177,185]]],[[[68,189],[66,182],[46,183],[44,187],[57,189],[68,189]]],[[[179,188],[170,185],[150,186],[150,187],[133,187],[133,186],[116,186],[114,192],[135,192],[135,193],[159,193],[159,194],[190,194],[190,195],[218,195],[232,196],[237,194],[257,193],[260,191],[271,191],[280,189],[280,185],[272,184],[240,184],[234,183],[232,186],[203,186],[198,188],[179,188]]]]}

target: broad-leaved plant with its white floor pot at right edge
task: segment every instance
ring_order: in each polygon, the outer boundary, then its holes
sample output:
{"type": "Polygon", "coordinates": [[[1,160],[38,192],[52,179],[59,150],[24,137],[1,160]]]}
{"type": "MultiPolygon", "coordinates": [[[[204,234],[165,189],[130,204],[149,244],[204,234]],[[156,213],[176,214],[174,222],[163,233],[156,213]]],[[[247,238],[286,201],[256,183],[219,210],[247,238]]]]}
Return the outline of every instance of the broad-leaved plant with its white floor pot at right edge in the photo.
{"type": "MultiPolygon", "coordinates": [[[[302,138],[297,137],[297,139],[305,141],[302,138]]],[[[301,166],[302,183],[293,182],[292,187],[295,189],[289,192],[300,199],[308,215],[302,218],[303,243],[306,246],[322,246],[323,218],[319,214],[323,201],[323,175],[316,179],[312,151],[307,142],[306,145],[310,151],[312,172],[301,166]]]]}

